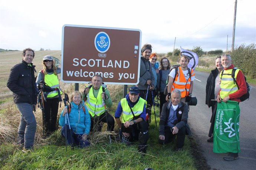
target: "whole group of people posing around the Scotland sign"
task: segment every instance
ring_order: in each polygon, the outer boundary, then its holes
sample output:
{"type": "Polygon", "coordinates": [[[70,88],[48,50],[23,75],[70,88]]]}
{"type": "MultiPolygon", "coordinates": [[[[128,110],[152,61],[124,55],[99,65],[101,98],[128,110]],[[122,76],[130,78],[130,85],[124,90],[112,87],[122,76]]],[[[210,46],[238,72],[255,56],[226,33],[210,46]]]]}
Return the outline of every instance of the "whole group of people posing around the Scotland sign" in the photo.
{"type": "MultiPolygon", "coordinates": [[[[37,75],[37,79],[35,79],[35,66],[32,64],[34,57],[35,52],[32,49],[23,50],[22,62],[11,69],[7,81],[7,87],[13,92],[14,103],[21,113],[18,139],[19,143],[24,145],[24,151],[33,147],[35,139],[36,119],[33,110],[37,103],[38,89],[42,91],[39,101],[44,112],[43,132],[46,137],[57,129],[59,96],[62,94],[58,82],[60,68],[56,66],[53,57],[49,55],[43,57],[43,69],[37,75]],[[46,87],[52,91],[44,90],[47,89],[46,87]]],[[[151,108],[154,105],[154,98],[157,97],[160,99],[158,142],[169,143],[177,136],[175,151],[181,150],[185,135],[191,134],[187,123],[187,103],[191,100],[195,74],[193,69],[187,67],[190,58],[186,55],[181,55],[180,66],[175,69],[171,69],[170,61],[166,57],[160,59],[159,69],[157,59],[158,56],[152,53],[150,44],[142,46],[140,81],[138,85],[131,86],[129,93],[118,103],[114,114],[115,119],[106,110],[113,103],[109,90],[102,84],[101,75],[93,76],[92,85],[87,86],[83,93],[73,92],[70,104],[62,110],[59,118],[59,125],[62,126],[61,134],[68,144],[89,146],[90,131],[101,131],[102,122],[107,123],[108,131],[114,131],[116,121],[120,141],[129,145],[134,140],[138,140],[138,151],[146,153],[151,108]],[[167,95],[164,94],[166,86],[167,95]]],[[[216,69],[211,71],[206,85],[206,104],[212,107],[212,112],[217,102],[228,100],[240,102],[239,97],[246,93],[243,73],[239,69],[236,72],[237,90],[229,90],[236,86],[231,81],[222,83],[220,72],[224,69],[224,74],[228,75],[233,67],[230,55],[225,54],[216,59],[216,69]]],[[[214,119],[213,112],[212,124],[214,119]]],[[[210,139],[207,141],[212,142],[214,137],[212,126],[209,134],[210,139]]],[[[229,153],[224,159],[238,159],[238,153],[229,153]]]]}

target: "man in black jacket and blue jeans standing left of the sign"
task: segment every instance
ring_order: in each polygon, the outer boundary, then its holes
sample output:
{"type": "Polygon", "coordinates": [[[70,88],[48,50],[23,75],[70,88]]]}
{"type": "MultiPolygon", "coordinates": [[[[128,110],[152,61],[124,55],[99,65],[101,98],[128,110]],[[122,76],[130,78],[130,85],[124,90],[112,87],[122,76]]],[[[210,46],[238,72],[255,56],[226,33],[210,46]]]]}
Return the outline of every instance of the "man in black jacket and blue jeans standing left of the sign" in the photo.
{"type": "Polygon", "coordinates": [[[24,152],[32,149],[36,134],[36,118],[33,113],[37,102],[36,70],[32,63],[34,57],[35,52],[31,48],[23,50],[22,62],[14,65],[7,81],[7,87],[13,92],[13,101],[21,114],[18,140],[24,145],[24,152]]]}

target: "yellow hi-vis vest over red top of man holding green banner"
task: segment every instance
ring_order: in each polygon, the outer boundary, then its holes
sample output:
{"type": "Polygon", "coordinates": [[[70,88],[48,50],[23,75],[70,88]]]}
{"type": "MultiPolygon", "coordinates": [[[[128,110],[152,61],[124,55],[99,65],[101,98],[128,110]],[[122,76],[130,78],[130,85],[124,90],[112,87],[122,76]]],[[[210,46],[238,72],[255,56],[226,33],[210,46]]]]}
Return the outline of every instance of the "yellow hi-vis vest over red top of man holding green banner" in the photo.
{"type": "MultiPolygon", "coordinates": [[[[236,69],[234,78],[236,79],[236,76],[238,74],[240,69],[236,69]]],[[[223,99],[224,97],[227,97],[229,94],[234,93],[238,90],[238,87],[236,83],[234,82],[234,79],[231,76],[232,69],[223,70],[220,72],[220,98],[223,99]],[[222,76],[222,77],[221,77],[222,76]]]]}

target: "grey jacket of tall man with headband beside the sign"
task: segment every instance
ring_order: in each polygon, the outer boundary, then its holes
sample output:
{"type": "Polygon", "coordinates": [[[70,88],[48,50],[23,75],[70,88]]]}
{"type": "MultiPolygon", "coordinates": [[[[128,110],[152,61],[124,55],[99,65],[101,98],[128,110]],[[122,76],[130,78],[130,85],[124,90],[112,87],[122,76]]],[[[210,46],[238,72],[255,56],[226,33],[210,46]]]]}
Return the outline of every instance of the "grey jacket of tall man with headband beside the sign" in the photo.
{"type": "Polygon", "coordinates": [[[148,85],[147,85],[147,80],[152,81],[152,85],[155,87],[156,84],[154,84],[154,74],[152,73],[151,70],[151,63],[144,57],[141,57],[141,64],[140,64],[140,82],[137,85],[140,90],[147,90],[148,85]]]}

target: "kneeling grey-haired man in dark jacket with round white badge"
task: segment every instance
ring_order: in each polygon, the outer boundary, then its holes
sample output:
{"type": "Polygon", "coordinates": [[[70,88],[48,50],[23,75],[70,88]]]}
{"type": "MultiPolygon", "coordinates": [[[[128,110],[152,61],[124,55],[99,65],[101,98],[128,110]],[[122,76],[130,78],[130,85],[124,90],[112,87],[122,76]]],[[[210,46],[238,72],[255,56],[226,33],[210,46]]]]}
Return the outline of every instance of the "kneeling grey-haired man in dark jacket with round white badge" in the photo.
{"type": "Polygon", "coordinates": [[[160,144],[170,143],[177,135],[175,151],[182,149],[186,136],[191,131],[187,125],[188,106],[181,100],[181,92],[174,89],[171,92],[171,101],[164,103],[159,122],[159,140],[160,144]]]}

